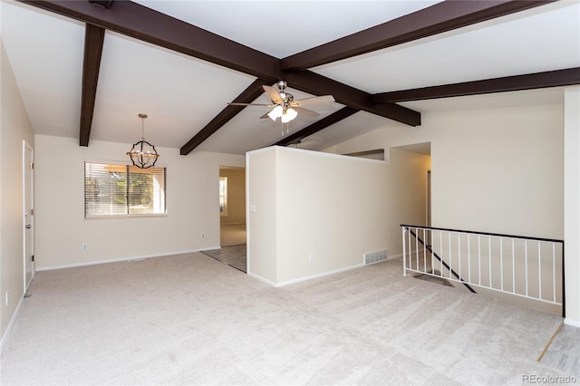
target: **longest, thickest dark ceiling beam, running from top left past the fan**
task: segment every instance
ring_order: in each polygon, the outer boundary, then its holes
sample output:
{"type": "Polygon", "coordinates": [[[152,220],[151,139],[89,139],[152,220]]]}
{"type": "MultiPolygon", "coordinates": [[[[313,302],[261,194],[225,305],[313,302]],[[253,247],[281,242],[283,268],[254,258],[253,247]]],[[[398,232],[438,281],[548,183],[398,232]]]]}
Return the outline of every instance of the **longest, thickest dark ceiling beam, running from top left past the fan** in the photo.
{"type": "Polygon", "coordinates": [[[284,79],[290,87],[297,90],[314,95],[336,95],[337,101],[355,109],[372,112],[411,126],[420,124],[420,113],[417,111],[394,103],[373,105],[371,94],[314,72],[292,74],[280,72],[280,60],[273,56],[130,1],[116,2],[111,10],[94,6],[88,1],[18,1],[197,57],[209,63],[245,72],[257,78],[271,82],[284,79]]]}

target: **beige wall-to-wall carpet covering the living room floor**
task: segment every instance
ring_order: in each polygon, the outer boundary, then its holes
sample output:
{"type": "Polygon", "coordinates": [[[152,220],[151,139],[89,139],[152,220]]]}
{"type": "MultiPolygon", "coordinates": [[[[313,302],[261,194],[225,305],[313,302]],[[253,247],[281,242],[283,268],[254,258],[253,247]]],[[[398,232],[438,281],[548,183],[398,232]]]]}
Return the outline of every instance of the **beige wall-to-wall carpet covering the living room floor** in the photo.
{"type": "Polygon", "coordinates": [[[273,288],[201,253],[39,272],[2,384],[500,385],[561,318],[387,261],[273,288]]]}

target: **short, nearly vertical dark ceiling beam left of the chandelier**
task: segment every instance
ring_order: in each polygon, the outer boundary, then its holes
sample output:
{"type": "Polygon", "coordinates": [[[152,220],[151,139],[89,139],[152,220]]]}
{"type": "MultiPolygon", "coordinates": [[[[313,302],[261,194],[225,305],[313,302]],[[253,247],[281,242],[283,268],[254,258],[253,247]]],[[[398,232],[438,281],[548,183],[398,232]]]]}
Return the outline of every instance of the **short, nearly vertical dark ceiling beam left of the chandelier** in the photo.
{"type": "Polygon", "coordinates": [[[81,132],[79,144],[89,146],[91,137],[92,113],[97,96],[99,68],[101,67],[102,44],[105,30],[91,24],[86,24],[84,33],[84,59],[82,63],[82,94],[81,94],[81,132]]]}

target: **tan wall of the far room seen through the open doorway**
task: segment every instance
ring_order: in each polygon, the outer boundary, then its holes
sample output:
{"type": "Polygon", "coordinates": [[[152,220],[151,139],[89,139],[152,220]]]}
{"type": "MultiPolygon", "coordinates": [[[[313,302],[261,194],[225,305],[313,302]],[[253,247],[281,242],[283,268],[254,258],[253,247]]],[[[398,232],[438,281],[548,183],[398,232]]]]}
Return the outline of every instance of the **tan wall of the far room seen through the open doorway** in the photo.
{"type": "Polygon", "coordinates": [[[227,215],[219,217],[221,224],[246,224],[246,169],[220,168],[219,176],[227,177],[227,215]]]}

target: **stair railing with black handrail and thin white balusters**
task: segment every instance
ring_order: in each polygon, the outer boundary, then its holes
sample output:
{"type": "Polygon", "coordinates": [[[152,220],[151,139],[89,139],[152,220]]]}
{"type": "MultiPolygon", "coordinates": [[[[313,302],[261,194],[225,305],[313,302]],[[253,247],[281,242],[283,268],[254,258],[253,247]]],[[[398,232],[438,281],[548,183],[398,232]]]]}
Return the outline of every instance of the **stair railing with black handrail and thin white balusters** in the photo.
{"type": "Polygon", "coordinates": [[[403,275],[459,282],[562,307],[564,240],[401,225],[403,275]]]}

